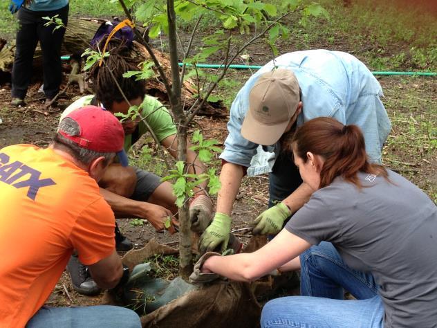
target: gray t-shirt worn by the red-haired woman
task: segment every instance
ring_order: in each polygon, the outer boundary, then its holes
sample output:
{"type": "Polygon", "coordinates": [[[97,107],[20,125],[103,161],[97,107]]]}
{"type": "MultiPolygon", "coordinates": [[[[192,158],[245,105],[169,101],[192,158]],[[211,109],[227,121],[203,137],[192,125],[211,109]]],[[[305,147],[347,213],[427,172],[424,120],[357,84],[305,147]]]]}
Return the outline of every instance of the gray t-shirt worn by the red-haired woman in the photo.
{"type": "Polygon", "coordinates": [[[384,327],[437,326],[437,207],[389,171],[359,174],[364,188],[337,178],[286,224],[310,244],[331,242],[355,270],[371,272],[384,302],[384,327]]]}

